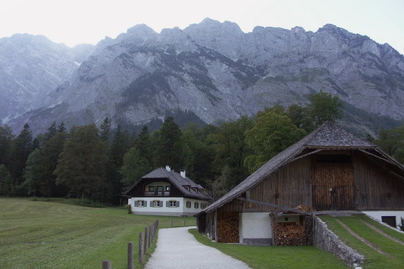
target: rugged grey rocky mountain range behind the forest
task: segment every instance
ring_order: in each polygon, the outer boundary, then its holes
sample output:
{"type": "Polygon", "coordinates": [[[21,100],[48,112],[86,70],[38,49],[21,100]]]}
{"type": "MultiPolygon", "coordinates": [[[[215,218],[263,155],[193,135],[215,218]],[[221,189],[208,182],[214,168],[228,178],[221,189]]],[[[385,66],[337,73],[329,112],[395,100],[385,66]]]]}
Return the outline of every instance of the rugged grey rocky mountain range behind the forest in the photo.
{"type": "Polygon", "coordinates": [[[364,132],[404,119],[404,57],[331,24],[249,33],[209,18],[160,33],[142,24],[73,48],[13,35],[0,39],[0,64],[0,119],[36,133],[106,116],[128,128],[170,113],[216,123],[306,104],[320,89],[338,95],[345,124],[364,132]]]}

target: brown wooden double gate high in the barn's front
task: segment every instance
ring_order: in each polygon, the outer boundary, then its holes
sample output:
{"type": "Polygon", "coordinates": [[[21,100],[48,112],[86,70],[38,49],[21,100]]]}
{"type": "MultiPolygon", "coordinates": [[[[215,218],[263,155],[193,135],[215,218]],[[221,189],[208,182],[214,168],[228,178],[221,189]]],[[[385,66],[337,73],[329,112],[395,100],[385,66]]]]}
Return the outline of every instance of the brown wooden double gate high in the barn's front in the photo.
{"type": "Polygon", "coordinates": [[[317,163],[313,181],[316,210],[356,209],[354,170],[351,164],[317,163]]]}

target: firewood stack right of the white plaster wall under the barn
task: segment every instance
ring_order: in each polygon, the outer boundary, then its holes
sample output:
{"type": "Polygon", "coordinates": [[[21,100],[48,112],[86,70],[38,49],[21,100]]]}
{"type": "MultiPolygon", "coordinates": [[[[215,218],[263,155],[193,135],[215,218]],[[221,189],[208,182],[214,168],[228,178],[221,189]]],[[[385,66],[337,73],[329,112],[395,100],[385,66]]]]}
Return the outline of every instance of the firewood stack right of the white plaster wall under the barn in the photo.
{"type": "Polygon", "coordinates": [[[294,223],[278,223],[278,246],[303,246],[307,237],[302,225],[294,223]]]}

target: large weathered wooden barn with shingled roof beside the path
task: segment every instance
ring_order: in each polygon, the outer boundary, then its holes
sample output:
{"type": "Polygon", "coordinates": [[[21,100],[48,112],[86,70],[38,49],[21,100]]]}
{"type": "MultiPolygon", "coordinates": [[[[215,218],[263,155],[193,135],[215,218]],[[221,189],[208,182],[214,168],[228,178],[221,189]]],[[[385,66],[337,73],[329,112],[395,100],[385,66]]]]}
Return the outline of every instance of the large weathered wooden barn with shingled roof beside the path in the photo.
{"type": "Polygon", "coordinates": [[[217,242],[272,245],[274,222],[310,229],[305,213],[293,209],[299,205],[360,210],[395,226],[404,217],[404,167],[373,143],[325,123],[199,212],[197,227],[217,242]]]}

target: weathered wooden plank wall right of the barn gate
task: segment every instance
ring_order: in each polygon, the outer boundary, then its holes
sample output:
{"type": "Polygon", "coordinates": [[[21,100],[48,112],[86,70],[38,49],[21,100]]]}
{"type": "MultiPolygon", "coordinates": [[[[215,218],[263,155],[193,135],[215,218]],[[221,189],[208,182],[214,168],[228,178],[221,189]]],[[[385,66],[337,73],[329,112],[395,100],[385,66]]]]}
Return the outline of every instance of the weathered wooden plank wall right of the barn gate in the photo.
{"type": "Polygon", "coordinates": [[[365,153],[354,152],[353,163],[359,210],[404,209],[404,184],[398,178],[371,162],[365,153]]]}

